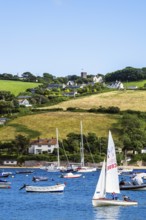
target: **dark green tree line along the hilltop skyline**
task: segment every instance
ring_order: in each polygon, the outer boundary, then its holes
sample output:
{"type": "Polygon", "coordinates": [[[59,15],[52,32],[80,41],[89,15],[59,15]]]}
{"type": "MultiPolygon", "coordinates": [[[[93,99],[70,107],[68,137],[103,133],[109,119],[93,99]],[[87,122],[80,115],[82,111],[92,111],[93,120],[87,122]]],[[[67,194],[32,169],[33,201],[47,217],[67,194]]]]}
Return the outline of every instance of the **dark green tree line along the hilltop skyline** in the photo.
{"type": "MultiPolygon", "coordinates": [[[[106,73],[105,75],[98,73],[98,76],[102,76],[105,83],[114,82],[116,80],[127,82],[127,81],[139,81],[146,79],[146,67],[143,68],[134,68],[134,67],[125,67],[122,70],[116,70],[111,73],[106,73]]],[[[39,82],[39,83],[67,83],[68,80],[74,81],[77,84],[89,83],[92,82],[93,74],[88,74],[87,78],[82,78],[78,75],[68,75],[63,77],[56,77],[50,73],[43,73],[42,76],[36,76],[31,72],[22,73],[21,77],[19,75],[13,75],[10,73],[0,74],[1,80],[16,80],[24,82],[39,82]]]]}

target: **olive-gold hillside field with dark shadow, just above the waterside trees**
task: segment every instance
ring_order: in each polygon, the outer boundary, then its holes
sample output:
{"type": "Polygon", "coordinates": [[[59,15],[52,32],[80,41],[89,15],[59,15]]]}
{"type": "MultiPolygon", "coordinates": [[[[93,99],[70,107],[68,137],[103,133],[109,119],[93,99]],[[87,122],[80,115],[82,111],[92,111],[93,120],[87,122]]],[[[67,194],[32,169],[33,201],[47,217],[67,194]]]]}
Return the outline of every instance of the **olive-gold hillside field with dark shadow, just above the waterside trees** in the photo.
{"type": "Polygon", "coordinates": [[[118,117],[71,112],[49,112],[23,116],[0,128],[0,141],[14,139],[18,134],[31,139],[56,137],[56,128],[59,130],[59,139],[63,139],[70,132],[80,133],[80,121],[83,122],[84,134],[94,132],[99,137],[107,137],[108,130],[114,130],[118,117]]]}

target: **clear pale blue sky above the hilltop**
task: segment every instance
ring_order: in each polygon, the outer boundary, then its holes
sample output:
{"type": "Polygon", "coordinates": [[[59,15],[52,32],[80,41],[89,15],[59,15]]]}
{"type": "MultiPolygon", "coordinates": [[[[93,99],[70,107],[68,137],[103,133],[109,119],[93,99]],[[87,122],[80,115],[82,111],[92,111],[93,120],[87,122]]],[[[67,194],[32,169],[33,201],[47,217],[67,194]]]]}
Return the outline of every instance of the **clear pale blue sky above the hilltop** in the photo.
{"type": "Polygon", "coordinates": [[[145,0],[0,0],[0,73],[146,67],[145,0]]]}

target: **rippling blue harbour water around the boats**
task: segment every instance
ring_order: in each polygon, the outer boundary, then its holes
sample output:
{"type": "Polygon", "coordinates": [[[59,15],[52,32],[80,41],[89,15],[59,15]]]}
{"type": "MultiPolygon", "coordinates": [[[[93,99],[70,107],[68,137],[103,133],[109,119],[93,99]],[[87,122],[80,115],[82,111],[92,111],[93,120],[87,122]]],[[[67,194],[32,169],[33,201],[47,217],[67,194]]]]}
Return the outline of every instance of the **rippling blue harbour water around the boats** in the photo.
{"type": "MultiPolygon", "coordinates": [[[[15,172],[18,169],[5,169],[15,172]]],[[[20,170],[20,169],[19,169],[20,170]]],[[[91,200],[99,172],[83,174],[77,179],[62,179],[58,173],[34,169],[32,174],[8,177],[11,189],[0,189],[0,220],[143,220],[146,218],[146,191],[128,191],[126,195],[138,200],[137,207],[94,208],[91,200]],[[48,176],[47,182],[32,182],[34,175],[48,176]],[[54,181],[51,180],[54,179],[54,181]],[[66,182],[64,193],[27,193],[19,190],[24,184],[46,185],[66,182]]],[[[124,192],[122,191],[122,194],[124,192]]]]}

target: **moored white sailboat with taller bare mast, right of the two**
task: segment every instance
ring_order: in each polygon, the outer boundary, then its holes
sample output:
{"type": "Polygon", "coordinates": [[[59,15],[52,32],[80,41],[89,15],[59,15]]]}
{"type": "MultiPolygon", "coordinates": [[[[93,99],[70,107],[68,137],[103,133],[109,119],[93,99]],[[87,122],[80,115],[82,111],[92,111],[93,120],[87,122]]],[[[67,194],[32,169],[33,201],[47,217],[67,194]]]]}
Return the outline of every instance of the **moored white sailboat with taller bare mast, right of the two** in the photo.
{"type": "Polygon", "coordinates": [[[95,167],[87,167],[87,166],[85,166],[82,121],[81,121],[80,126],[81,126],[81,148],[80,148],[80,150],[81,150],[81,167],[79,167],[78,172],[86,173],[86,172],[97,171],[97,169],[95,167]]]}

